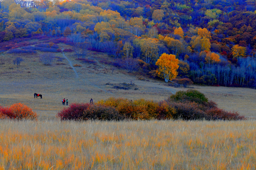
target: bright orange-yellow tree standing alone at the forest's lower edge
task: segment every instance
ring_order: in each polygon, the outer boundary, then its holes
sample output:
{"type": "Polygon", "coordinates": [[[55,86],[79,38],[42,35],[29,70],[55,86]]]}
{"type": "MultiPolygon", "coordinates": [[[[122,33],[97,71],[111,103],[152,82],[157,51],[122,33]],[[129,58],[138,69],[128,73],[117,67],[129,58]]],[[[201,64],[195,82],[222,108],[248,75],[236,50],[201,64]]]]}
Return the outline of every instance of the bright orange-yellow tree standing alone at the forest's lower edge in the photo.
{"type": "Polygon", "coordinates": [[[178,75],[179,60],[173,54],[163,53],[156,62],[158,66],[157,74],[165,79],[167,83],[169,80],[176,78],[178,75]]]}

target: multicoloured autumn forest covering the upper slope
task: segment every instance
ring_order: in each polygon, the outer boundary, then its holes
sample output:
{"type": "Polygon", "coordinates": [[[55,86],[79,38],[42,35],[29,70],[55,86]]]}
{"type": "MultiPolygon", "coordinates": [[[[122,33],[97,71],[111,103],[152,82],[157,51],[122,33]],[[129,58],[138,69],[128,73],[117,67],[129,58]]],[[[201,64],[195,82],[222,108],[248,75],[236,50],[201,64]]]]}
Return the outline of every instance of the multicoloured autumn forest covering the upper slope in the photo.
{"type": "Polygon", "coordinates": [[[41,45],[49,52],[67,43],[78,59],[107,53],[113,67],[166,82],[256,87],[254,0],[2,0],[0,7],[1,52],[36,53],[29,40],[52,37],[41,45]]]}

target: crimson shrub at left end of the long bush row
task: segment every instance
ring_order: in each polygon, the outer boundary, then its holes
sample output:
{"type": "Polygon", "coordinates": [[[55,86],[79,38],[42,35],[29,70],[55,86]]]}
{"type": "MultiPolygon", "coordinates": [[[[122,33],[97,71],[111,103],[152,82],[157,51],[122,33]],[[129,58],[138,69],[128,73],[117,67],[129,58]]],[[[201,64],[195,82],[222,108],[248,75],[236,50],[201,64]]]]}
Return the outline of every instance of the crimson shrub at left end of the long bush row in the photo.
{"type": "Polygon", "coordinates": [[[72,103],[68,108],[63,108],[56,117],[61,120],[81,120],[83,112],[90,106],[89,103],[72,103]]]}

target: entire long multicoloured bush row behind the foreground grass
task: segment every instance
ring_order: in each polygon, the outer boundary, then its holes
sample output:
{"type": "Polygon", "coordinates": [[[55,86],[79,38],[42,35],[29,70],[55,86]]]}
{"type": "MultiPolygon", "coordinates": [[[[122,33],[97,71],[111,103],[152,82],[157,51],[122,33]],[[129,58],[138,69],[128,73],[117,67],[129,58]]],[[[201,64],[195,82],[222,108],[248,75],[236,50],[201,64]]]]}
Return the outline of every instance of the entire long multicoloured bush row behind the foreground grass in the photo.
{"type": "Polygon", "coordinates": [[[61,120],[243,120],[237,112],[227,112],[208,101],[197,90],[178,91],[170,99],[154,102],[137,99],[109,98],[91,105],[72,103],[57,115],[61,120]]]}

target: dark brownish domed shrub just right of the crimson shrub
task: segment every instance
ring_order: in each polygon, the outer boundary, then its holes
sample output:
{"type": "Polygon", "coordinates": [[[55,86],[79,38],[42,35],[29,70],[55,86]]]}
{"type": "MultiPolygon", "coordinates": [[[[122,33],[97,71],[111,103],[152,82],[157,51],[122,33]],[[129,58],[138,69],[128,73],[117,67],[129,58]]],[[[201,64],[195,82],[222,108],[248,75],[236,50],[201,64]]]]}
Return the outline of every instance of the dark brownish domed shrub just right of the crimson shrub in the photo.
{"type": "Polygon", "coordinates": [[[123,120],[124,117],[119,112],[110,106],[102,104],[90,105],[84,112],[82,120],[123,120]]]}

